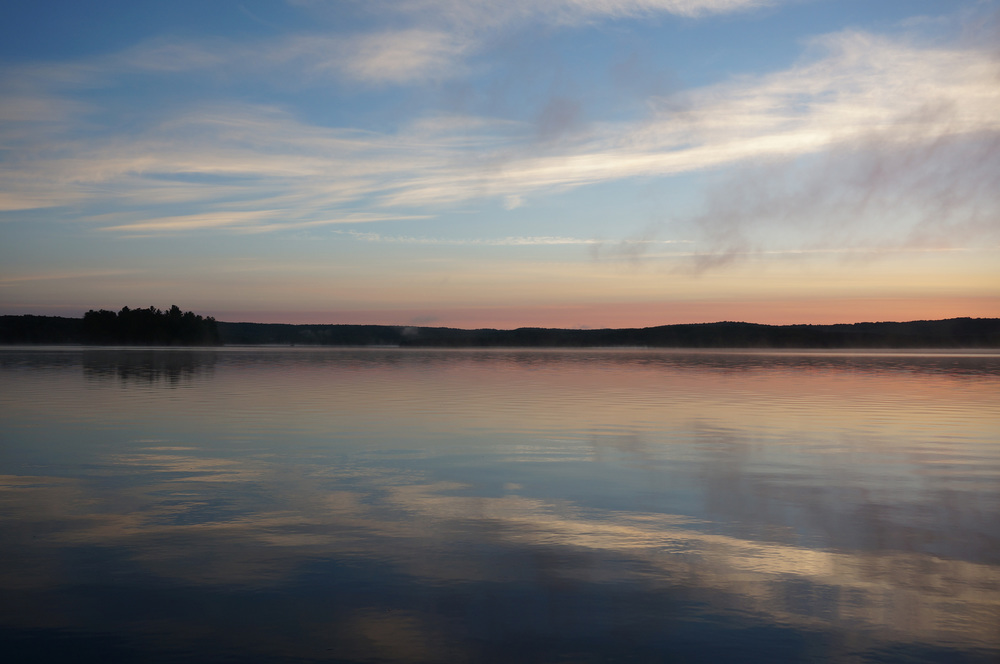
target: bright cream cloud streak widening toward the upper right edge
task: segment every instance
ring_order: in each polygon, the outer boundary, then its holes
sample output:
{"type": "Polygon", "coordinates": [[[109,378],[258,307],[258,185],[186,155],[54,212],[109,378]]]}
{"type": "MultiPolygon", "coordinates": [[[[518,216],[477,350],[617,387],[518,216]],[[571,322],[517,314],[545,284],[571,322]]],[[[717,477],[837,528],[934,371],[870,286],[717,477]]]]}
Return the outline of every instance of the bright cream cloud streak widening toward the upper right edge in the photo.
{"type": "Polygon", "coordinates": [[[828,55],[812,63],[661,100],[645,121],[604,124],[555,154],[496,153],[480,172],[421,174],[386,201],[523,196],[794,159],[873,138],[894,150],[1000,131],[997,59],[988,51],[920,49],[852,32],[819,45],[828,55]]]}

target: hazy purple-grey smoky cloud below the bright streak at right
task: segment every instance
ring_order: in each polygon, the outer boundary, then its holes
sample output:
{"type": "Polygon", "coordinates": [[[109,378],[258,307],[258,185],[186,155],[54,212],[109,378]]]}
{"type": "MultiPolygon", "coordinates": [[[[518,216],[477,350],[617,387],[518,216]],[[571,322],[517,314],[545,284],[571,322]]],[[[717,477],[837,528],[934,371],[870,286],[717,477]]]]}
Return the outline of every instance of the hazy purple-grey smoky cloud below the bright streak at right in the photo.
{"type": "Polygon", "coordinates": [[[706,254],[700,268],[773,251],[951,251],[1000,242],[1000,135],[940,136],[861,145],[756,169],[709,189],[690,220],[706,254]]]}

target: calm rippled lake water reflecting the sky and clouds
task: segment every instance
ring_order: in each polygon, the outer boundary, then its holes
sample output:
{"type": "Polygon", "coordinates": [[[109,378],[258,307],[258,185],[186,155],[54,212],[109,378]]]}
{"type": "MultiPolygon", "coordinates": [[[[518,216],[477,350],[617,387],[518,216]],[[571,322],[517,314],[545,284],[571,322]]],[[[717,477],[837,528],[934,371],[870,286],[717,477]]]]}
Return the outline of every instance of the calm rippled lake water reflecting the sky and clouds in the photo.
{"type": "Polygon", "coordinates": [[[1000,355],[0,350],[5,661],[994,662],[1000,355]]]}

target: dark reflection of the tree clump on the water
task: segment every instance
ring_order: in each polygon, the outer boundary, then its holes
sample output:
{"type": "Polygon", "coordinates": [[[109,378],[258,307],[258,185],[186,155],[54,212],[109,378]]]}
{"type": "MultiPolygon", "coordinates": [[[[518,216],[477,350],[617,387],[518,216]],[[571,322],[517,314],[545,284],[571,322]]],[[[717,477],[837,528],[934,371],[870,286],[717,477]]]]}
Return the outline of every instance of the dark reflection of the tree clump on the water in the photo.
{"type": "Polygon", "coordinates": [[[176,385],[211,374],[218,354],[214,351],[114,350],[83,354],[83,374],[98,381],[176,385]]]}

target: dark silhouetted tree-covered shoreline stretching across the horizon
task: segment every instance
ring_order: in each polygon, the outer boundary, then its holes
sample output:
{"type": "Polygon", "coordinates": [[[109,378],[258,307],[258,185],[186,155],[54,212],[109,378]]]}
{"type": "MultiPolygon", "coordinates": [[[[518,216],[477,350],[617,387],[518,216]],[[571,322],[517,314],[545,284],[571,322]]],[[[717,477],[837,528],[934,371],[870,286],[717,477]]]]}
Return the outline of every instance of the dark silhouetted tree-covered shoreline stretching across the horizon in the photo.
{"type": "Polygon", "coordinates": [[[1000,318],[905,323],[759,325],[695,323],[658,327],[564,330],[461,330],[395,325],[223,323],[176,306],[123,308],[83,318],[0,316],[0,343],[125,346],[401,346],[438,348],[1000,348],[1000,318]]]}

